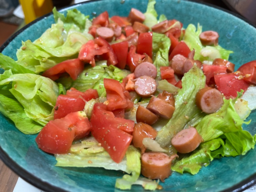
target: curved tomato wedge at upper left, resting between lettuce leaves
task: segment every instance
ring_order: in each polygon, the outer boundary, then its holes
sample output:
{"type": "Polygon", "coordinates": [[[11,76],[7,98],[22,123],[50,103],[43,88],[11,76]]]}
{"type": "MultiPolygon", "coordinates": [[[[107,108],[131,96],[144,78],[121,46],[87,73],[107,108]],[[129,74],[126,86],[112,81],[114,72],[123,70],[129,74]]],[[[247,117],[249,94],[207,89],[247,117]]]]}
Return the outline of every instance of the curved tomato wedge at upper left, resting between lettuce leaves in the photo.
{"type": "Polygon", "coordinates": [[[84,63],[79,59],[65,60],[52,68],[47,69],[42,76],[48,77],[53,81],[60,78],[64,73],[76,80],[77,76],[84,70],[84,63]]]}

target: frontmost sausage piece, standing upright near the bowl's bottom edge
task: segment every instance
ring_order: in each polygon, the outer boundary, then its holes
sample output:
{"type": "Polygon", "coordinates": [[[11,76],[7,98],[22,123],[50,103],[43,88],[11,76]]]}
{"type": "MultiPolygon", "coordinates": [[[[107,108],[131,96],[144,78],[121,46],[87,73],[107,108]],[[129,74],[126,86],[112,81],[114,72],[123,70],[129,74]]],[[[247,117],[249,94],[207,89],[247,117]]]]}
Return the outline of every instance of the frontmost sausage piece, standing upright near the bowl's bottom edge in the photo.
{"type": "Polygon", "coordinates": [[[172,160],[178,155],[168,156],[163,152],[147,152],[141,156],[141,174],[149,179],[164,179],[171,175],[172,160]]]}

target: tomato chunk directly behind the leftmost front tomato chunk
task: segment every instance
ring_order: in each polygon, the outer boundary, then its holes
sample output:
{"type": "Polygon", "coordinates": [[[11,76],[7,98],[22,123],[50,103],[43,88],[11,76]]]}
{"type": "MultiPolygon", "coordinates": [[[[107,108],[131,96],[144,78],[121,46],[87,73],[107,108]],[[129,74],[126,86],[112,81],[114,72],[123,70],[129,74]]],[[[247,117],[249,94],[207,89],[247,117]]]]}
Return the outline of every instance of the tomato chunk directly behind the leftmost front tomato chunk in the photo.
{"type": "Polygon", "coordinates": [[[98,92],[88,89],[85,92],[71,88],[66,95],[59,95],[55,105],[54,119],[60,119],[69,113],[82,111],[86,101],[98,98],[98,92]]]}

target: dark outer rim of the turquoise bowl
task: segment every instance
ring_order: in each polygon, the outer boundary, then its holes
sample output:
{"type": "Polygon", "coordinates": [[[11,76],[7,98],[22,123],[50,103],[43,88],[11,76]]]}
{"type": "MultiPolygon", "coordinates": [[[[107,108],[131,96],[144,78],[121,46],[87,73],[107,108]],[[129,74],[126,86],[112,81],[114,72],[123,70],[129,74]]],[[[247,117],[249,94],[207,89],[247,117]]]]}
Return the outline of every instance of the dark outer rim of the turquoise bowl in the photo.
{"type": "MultiPolygon", "coordinates": [[[[66,11],[66,10],[72,9],[74,7],[77,7],[79,5],[87,4],[87,3],[91,3],[91,2],[96,2],[96,1],[100,1],[100,0],[87,0],[85,2],[81,2],[81,3],[77,3],[77,4],[72,4],[72,5],[61,7],[59,9],[57,9],[57,11],[66,11]]],[[[231,14],[231,15],[235,16],[236,18],[239,18],[239,19],[243,20],[244,22],[248,23],[252,27],[256,28],[256,24],[252,23],[252,21],[246,19],[245,17],[241,16],[240,14],[238,14],[236,12],[232,12],[230,10],[227,10],[225,8],[222,8],[222,7],[219,7],[217,5],[206,3],[206,2],[202,2],[202,1],[199,1],[199,0],[181,0],[181,1],[191,2],[191,3],[196,3],[196,4],[203,4],[203,5],[206,5],[208,7],[212,7],[212,8],[218,9],[220,11],[223,11],[223,12],[226,12],[228,14],[231,14]]],[[[45,17],[51,16],[52,14],[53,14],[52,12],[50,12],[48,14],[45,14],[44,16],[41,16],[41,17],[37,18],[36,20],[28,23],[27,25],[25,25],[24,27],[22,27],[21,29],[16,31],[14,34],[12,34],[12,36],[10,36],[7,39],[7,41],[5,41],[4,44],[0,46],[0,53],[3,52],[3,50],[12,42],[12,40],[15,39],[15,37],[17,37],[25,29],[29,28],[30,26],[32,26],[33,24],[37,23],[38,21],[43,20],[45,17]]],[[[52,184],[50,184],[48,182],[45,182],[45,181],[41,180],[40,178],[37,178],[32,173],[30,173],[27,170],[25,170],[22,167],[20,167],[20,165],[17,164],[15,161],[13,161],[12,158],[2,149],[1,146],[0,146],[0,159],[3,161],[3,163],[7,167],[9,167],[20,178],[22,178],[26,182],[30,183],[31,185],[35,186],[36,188],[40,188],[40,189],[42,189],[44,191],[48,191],[48,192],[55,192],[55,191],[68,192],[68,191],[66,191],[66,190],[64,190],[62,188],[53,186],[52,184]]],[[[244,191],[246,189],[249,189],[250,187],[253,187],[255,184],[256,184],[256,172],[254,174],[252,174],[250,177],[240,181],[236,185],[233,185],[232,187],[224,189],[222,191],[223,192],[224,191],[233,191],[233,192],[240,192],[241,191],[242,192],[242,191],[244,191]]]]}

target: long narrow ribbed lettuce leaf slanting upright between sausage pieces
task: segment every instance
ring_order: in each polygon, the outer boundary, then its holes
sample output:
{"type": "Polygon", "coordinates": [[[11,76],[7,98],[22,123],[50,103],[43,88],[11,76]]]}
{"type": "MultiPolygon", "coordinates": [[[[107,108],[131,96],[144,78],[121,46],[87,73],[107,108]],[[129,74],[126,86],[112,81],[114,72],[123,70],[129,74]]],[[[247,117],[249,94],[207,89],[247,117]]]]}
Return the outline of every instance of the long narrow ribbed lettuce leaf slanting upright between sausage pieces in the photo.
{"type": "Polygon", "coordinates": [[[182,78],[182,88],[175,96],[175,110],[169,122],[157,133],[156,141],[161,147],[170,146],[172,137],[181,131],[201,110],[196,107],[196,93],[204,88],[203,71],[193,66],[182,78]]]}

